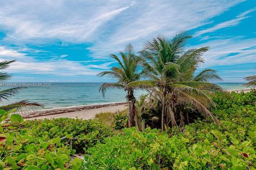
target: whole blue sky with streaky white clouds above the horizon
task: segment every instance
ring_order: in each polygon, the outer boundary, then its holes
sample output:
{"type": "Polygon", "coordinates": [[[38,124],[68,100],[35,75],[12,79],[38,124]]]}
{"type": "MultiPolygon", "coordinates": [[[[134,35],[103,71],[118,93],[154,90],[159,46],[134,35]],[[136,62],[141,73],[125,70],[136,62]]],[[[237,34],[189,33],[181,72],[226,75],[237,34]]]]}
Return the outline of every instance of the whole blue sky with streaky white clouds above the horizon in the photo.
{"type": "Polygon", "coordinates": [[[256,1],[0,1],[0,61],[10,82],[106,82],[110,53],[141,50],[188,31],[187,48],[210,46],[206,67],[224,82],[256,72],[256,1]]]}

